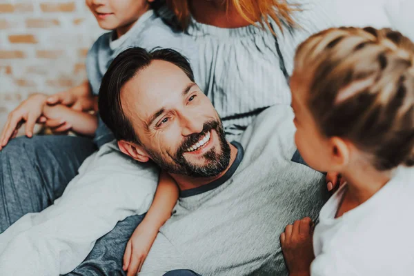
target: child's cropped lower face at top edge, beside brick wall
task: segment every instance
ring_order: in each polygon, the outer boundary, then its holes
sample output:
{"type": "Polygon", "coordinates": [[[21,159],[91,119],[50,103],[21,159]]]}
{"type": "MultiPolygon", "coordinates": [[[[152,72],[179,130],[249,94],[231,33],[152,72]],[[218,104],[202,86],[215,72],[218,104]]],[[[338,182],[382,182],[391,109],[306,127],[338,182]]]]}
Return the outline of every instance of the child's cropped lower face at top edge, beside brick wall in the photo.
{"type": "Polygon", "coordinates": [[[149,7],[147,0],[86,0],[86,5],[105,30],[132,26],[149,7]]]}

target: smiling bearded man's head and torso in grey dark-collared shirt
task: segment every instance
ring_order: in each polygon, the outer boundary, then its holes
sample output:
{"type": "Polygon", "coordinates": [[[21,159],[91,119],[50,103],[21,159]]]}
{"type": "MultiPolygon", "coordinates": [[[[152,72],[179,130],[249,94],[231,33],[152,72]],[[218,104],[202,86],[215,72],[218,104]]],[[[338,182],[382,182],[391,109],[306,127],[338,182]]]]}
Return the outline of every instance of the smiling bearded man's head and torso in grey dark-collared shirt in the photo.
{"type": "MultiPolygon", "coordinates": [[[[290,161],[290,107],[269,108],[239,142],[229,143],[190,65],[168,49],[121,53],[99,95],[101,118],[120,150],[154,161],[180,189],[140,275],[179,268],[201,275],[287,274],[279,235],[295,219],[315,219],[326,196],[322,173],[290,161]]],[[[114,251],[120,260],[123,251],[114,251]]]]}

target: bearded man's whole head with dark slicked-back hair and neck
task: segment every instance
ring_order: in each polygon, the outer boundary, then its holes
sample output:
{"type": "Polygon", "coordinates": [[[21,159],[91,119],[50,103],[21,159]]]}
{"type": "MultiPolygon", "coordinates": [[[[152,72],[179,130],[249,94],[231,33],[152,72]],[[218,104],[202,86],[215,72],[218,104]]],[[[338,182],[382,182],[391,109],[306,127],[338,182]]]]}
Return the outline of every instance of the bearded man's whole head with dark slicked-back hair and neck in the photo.
{"type": "Polygon", "coordinates": [[[174,50],[131,48],[111,69],[108,76],[124,75],[124,83],[104,79],[99,109],[122,152],[141,162],[151,159],[179,179],[181,190],[228,170],[237,148],[226,141],[219,115],[184,57],[174,50]]]}

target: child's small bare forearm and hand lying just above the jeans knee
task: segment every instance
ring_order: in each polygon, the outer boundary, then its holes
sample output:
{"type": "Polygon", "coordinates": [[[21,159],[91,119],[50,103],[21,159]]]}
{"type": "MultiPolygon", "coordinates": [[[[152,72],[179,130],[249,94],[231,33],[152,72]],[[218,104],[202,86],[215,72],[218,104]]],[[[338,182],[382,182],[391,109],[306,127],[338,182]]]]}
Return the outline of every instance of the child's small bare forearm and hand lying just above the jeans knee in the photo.
{"type": "Polygon", "coordinates": [[[43,116],[49,120],[57,121],[57,124],[66,124],[66,130],[72,130],[80,135],[93,136],[98,127],[96,115],[88,112],[73,110],[68,106],[58,104],[56,106],[45,105],[43,116]]]}

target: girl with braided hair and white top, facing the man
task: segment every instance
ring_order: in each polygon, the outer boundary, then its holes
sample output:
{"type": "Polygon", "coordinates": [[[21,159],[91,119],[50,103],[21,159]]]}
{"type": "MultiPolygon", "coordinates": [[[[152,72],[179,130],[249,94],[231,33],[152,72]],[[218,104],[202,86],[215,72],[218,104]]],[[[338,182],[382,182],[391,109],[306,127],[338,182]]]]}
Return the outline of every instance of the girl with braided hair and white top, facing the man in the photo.
{"type": "Polygon", "coordinates": [[[325,30],[297,49],[290,85],[302,157],[347,181],[313,242],[311,219],[286,226],[290,276],[414,275],[414,44],[390,29],[325,30]]]}

